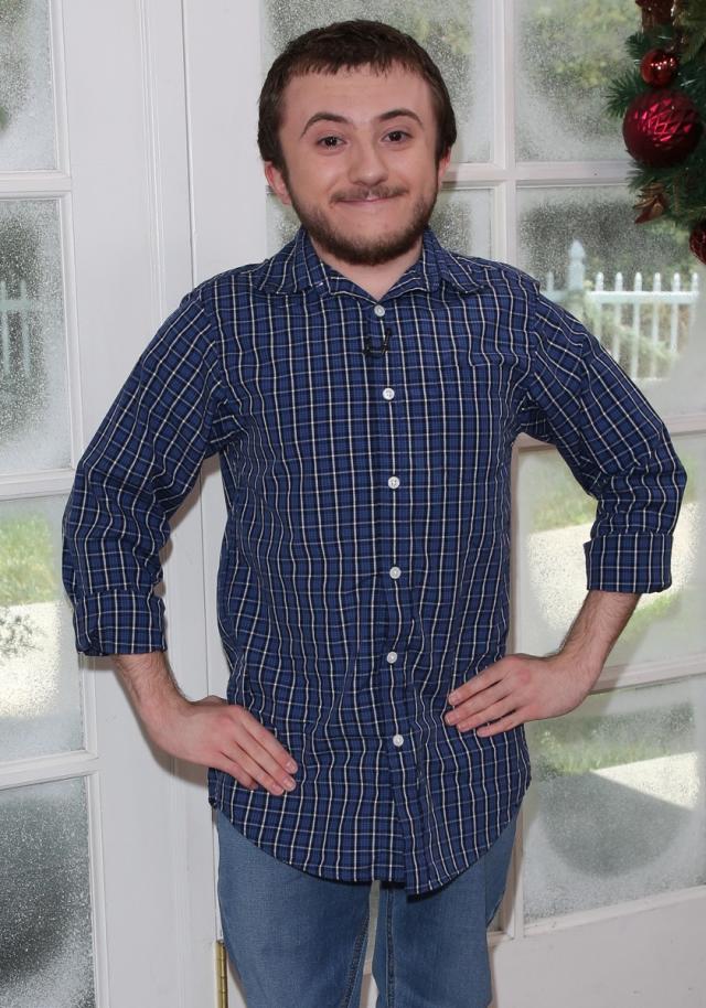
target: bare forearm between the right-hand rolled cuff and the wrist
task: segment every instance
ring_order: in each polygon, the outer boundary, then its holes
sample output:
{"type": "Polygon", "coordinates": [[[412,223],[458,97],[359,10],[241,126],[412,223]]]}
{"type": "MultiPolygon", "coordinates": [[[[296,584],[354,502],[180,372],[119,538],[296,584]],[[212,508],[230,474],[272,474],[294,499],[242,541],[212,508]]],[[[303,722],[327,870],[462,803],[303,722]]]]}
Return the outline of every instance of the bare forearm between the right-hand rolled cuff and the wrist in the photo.
{"type": "Polygon", "coordinates": [[[591,589],[557,655],[576,663],[590,686],[640,600],[640,593],[591,589]]]}

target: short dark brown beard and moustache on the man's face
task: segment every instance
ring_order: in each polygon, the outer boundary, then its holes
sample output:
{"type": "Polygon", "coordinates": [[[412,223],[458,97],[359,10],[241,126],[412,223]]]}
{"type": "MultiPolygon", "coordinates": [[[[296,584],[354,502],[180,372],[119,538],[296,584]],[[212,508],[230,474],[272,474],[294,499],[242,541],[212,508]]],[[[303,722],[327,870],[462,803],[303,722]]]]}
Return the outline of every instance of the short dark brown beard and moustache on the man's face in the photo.
{"type": "MultiPolygon", "coordinates": [[[[291,205],[309,236],[321,249],[350,266],[381,266],[383,262],[389,262],[399,256],[406,255],[424,234],[437,202],[436,192],[430,196],[419,196],[411,208],[410,218],[397,230],[381,234],[379,237],[375,238],[355,238],[334,227],[319,207],[303,206],[289,187],[288,179],[286,179],[286,182],[291,205]]],[[[406,190],[404,189],[373,186],[366,190],[340,193],[333,197],[333,202],[364,200],[366,197],[395,197],[403,195],[405,192],[406,190]]]]}

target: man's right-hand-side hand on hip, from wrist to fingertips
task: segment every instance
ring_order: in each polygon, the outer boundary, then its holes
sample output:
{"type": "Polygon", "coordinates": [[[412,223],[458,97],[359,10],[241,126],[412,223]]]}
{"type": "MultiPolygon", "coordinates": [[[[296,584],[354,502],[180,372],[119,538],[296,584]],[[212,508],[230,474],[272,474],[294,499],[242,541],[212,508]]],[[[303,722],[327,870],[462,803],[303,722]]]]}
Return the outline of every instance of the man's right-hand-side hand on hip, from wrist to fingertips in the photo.
{"type": "Polygon", "coordinates": [[[449,703],[454,709],[443,719],[460,731],[475,728],[479,736],[498,734],[524,721],[573,710],[599,674],[600,668],[580,667],[576,658],[561,653],[547,657],[506,655],[453,690],[449,703]]]}

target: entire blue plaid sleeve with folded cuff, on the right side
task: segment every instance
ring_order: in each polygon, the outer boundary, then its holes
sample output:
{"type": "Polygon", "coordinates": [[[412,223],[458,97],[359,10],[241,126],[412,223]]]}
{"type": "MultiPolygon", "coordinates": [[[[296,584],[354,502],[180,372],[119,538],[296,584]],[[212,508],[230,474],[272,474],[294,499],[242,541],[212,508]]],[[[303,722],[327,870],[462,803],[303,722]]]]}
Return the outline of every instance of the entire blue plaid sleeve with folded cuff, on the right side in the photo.
{"type": "Polygon", "coordinates": [[[537,293],[520,429],[556,446],[598,501],[588,589],[663,591],[686,472],[662,419],[574,315],[537,293]]]}

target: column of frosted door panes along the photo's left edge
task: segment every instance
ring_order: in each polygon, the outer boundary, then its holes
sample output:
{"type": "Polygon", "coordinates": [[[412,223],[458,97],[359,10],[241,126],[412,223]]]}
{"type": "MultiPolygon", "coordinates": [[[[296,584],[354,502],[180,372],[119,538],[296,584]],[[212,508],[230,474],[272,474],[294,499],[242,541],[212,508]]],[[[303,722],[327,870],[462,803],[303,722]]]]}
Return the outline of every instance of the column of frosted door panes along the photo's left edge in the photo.
{"type": "Polygon", "coordinates": [[[0,1001],[89,1008],[95,754],[61,582],[78,440],[61,25],[47,0],[3,3],[0,40],[0,1001]]]}

